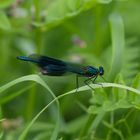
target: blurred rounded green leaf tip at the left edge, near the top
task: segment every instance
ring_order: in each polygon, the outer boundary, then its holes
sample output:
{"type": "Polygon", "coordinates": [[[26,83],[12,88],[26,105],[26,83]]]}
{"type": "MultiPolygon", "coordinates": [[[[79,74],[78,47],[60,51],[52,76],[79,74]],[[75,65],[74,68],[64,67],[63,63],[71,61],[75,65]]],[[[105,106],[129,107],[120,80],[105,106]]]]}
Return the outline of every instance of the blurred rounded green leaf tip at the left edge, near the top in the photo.
{"type": "Polygon", "coordinates": [[[9,31],[11,30],[11,24],[4,12],[0,12],[0,29],[9,31]]]}

